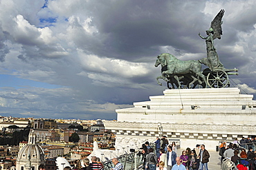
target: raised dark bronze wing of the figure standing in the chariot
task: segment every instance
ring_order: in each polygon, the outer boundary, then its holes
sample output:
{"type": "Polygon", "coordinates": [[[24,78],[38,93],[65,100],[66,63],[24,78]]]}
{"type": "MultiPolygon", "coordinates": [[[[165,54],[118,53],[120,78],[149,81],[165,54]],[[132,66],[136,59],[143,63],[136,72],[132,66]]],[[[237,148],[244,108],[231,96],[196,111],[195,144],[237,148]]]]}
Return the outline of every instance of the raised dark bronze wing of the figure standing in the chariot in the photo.
{"type": "Polygon", "coordinates": [[[210,27],[212,28],[214,34],[213,34],[213,39],[221,39],[221,35],[222,35],[222,28],[221,28],[221,24],[223,23],[223,21],[221,21],[223,15],[224,15],[225,10],[221,10],[216,17],[212,20],[212,22],[210,23],[210,27]]]}

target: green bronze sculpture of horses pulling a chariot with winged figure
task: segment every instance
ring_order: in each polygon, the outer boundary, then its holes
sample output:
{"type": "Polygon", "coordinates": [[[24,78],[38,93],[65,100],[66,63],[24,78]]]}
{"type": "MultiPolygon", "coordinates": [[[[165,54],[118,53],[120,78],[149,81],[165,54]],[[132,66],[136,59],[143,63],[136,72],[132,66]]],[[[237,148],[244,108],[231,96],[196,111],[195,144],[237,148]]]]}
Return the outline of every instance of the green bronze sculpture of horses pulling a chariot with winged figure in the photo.
{"type": "MultiPolygon", "coordinates": [[[[178,88],[195,88],[196,86],[223,88],[230,86],[228,75],[238,75],[238,70],[236,68],[224,68],[214,47],[214,39],[221,39],[221,24],[223,23],[221,19],[224,12],[221,10],[213,19],[210,29],[206,30],[208,36],[203,37],[199,33],[199,36],[205,39],[207,57],[199,61],[180,61],[172,54],[161,54],[155,63],[156,67],[160,64],[162,66],[162,75],[156,78],[157,81],[159,78],[163,78],[170,89],[175,88],[174,85],[178,88]],[[201,64],[208,66],[203,72],[201,72],[201,64]]],[[[159,81],[158,84],[162,85],[159,81]]]]}

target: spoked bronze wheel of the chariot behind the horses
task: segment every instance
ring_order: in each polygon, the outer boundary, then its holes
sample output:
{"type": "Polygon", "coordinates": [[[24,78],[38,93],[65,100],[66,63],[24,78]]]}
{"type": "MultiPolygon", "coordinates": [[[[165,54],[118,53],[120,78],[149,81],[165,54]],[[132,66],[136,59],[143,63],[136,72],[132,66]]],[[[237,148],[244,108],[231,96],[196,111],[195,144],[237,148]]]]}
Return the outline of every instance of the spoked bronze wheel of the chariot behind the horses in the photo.
{"type": "Polygon", "coordinates": [[[223,70],[209,72],[206,81],[211,88],[223,88],[229,85],[228,74],[223,70]]]}

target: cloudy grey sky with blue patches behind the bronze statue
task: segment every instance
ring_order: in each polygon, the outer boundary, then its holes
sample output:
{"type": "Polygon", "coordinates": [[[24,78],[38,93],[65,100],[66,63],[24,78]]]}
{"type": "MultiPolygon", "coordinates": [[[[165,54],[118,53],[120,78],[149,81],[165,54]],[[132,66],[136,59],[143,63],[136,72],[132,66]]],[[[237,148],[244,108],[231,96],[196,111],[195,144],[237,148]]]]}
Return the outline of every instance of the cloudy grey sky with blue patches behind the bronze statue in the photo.
{"type": "Polygon", "coordinates": [[[115,109],[167,89],[156,83],[158,54],[205,57],[198,33],[221,9],[221,63],[256,94],[254,0],[1,0],[0,9],[1,116],[116,119],[115,109]]]}

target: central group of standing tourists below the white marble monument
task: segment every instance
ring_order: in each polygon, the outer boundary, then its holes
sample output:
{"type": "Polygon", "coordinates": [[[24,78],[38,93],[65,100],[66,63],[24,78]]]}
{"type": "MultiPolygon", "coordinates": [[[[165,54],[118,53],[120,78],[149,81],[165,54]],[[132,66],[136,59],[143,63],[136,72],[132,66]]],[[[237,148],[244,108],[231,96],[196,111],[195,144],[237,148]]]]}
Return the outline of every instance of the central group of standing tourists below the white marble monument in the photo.
{"type": "Polygon", "coordinates": [[[145,142],[142,146],[143,153],[143,169],[146,170],[208,170],[208,162],[210,158],[209,152],[205,149],[205,145],[196,145],[194,149],[189,147],[182,151],[181,156],[177,153],[176,143],[169,142],[166,136],[161,139],[156,138],[155,148],[149,146],[149,142],[145,142]],[[154,151],[154,149],[156,149],[154,151]]]}

